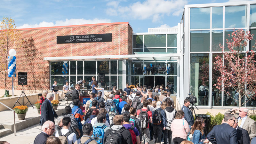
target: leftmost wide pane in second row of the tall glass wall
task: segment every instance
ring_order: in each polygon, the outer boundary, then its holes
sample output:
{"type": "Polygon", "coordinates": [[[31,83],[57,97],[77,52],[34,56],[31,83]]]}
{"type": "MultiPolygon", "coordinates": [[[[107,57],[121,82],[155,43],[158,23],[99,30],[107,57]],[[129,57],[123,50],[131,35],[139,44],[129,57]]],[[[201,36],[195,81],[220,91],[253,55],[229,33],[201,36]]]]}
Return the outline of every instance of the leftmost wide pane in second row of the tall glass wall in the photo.
{"type": "Polygon", "coordinates": [[[190,31],[190,52],[210,51],[210,30],[190,31]]]}

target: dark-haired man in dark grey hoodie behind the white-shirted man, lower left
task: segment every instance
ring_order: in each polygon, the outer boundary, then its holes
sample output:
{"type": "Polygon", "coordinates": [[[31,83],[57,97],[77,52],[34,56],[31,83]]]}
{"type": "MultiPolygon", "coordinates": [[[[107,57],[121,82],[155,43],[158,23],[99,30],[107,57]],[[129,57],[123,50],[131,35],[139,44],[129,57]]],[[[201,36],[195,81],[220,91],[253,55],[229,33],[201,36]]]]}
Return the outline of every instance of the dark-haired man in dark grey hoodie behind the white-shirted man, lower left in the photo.
{"type": "Polygon", "coordinates": [[[74,132],[76,134],[76,137],[78,138],[82,133],[80,132],[79,128],[78,128],[78,123],[76,121],[75,116],[72,115],[71,113],[71,107],[70,106],[66,106],[65,108],[65,113],[62,113],[63,117],[70,117],[71,119],[71,125],[68,128],[69,131],[74,132]]]}

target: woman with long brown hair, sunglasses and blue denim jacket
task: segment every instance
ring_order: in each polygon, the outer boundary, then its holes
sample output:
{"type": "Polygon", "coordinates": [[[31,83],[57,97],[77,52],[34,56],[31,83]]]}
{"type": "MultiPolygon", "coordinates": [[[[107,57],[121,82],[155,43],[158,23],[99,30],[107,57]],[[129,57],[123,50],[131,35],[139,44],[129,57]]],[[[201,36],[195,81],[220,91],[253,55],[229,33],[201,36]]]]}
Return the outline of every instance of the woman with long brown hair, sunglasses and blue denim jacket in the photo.
{"type": "Polygon", "coordinates": [[[205,127],[205,122],[202,117],[198,117],[194,124],[191,126],[191,133],[193,134],[193,140],[192,142],[194,144],[204,144],[204,143],[209,143],[209,140],[205,140],[205,135],[204,135],[204,127],[205,127]]]}

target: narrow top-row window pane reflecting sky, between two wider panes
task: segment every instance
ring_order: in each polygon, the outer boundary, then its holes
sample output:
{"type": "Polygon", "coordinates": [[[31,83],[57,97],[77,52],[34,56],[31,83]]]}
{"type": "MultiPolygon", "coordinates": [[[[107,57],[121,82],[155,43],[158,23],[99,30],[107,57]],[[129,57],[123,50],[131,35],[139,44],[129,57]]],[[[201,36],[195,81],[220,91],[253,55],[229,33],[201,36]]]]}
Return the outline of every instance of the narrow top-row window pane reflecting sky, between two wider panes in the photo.
{"type": "Polygon", "coordinates": [[[223,28],[223,7],[212,8],[212,28],[223,28]]]}

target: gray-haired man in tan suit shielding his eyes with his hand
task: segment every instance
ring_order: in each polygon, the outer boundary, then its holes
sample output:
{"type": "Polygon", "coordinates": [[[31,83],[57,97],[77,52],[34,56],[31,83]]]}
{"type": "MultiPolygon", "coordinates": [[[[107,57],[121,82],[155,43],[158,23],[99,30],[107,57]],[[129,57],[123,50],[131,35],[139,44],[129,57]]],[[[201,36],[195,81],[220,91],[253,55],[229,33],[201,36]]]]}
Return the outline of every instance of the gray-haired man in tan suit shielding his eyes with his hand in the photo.
{"type": "Polygon", "coordinates": [[[245,129],[250,136],[250,140],[256,136],[256,122],[248,116],[249,109],[245,107],[240,108],[232,108],[224,113],[232,114],[234,112],[234,116],[237,118],[237,125],[243,129],[245,129]],[[236,113],[238,110],[238,113],[236,113]]]}

